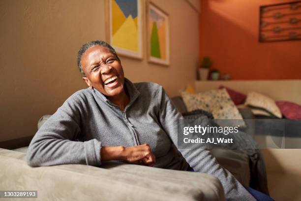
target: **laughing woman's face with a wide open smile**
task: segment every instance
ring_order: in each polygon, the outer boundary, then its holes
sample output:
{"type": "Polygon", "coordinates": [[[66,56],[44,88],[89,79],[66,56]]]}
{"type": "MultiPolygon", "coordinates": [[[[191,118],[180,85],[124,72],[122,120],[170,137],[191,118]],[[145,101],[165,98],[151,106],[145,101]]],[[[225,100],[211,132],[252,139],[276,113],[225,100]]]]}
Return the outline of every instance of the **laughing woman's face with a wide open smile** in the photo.
{"type": "Polygon", "coordinates": [[[82,56],[83,77],[92,86],[108,97],[124,92],[124,74],[120,61],[103,46],[90,47],[82,56]]]}

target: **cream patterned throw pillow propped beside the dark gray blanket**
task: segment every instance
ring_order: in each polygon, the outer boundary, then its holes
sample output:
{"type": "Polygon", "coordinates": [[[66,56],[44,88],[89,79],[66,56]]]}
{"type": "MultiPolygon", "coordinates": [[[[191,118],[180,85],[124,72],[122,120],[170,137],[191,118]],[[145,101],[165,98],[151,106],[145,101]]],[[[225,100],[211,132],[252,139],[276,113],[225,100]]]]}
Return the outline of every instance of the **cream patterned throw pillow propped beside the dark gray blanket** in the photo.
{"type": "Polygon", "coordinates": [[[242,120],[239,110],[226,89],[214,89],[197,94],[182,92],[181,96],[188,111],[203,109],[211,112],[214,119],[242,120]]]}

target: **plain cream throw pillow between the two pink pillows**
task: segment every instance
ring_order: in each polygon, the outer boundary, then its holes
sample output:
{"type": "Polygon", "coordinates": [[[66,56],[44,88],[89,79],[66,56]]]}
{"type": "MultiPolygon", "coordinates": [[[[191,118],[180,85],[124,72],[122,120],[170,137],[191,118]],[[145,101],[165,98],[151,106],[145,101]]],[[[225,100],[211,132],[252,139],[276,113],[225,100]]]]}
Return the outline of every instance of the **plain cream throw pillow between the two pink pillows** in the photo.
{"type": "Polygon", "coordinates": [[[282,118],[281,111],[276,105],[275,101],[265,95],[256,92],[250,92],[248,93],[244,104],[265,109],[276,117],[282,118]]]}

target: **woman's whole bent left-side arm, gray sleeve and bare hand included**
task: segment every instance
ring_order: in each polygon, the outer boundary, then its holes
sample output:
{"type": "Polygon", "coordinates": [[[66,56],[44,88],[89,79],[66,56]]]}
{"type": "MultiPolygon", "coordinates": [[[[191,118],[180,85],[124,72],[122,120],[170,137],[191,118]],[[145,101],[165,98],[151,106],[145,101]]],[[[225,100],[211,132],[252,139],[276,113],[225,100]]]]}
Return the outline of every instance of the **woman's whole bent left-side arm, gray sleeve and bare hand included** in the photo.
{"type": "Polygon", "coordinates": [[[27,151],[31,167],[60,164],[86,164],[100,166],[101,161],[124,160],[129,163],[152,166],[155,157],[150,146],[102,146],[96,139],[74,141],[80,134],[85,96],[74,94],[53,114],[34,135],[27,151]]]}

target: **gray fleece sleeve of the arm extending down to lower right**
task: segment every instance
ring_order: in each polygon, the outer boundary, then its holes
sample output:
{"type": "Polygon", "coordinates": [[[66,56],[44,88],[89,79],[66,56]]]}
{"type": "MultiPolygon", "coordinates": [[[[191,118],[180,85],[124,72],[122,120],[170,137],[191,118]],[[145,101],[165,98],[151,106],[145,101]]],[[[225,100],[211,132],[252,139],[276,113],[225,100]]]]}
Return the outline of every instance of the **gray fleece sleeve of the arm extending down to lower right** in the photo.
{"type": "MultiPolygon", "coordinates": [[[[160,122],[165,132],[178,148],[178,119],[183,117],[162,87],[159,87],[158,96],[160,101],[160,122]]],[[[217,163],[208,149],[192,145],[189,149],[179,149],[179,151],[195,171],[212,174],[220,180],[227,200],[255,201],[241,183],[227,169],[217,163]]]]}

